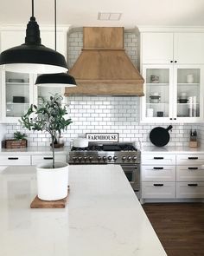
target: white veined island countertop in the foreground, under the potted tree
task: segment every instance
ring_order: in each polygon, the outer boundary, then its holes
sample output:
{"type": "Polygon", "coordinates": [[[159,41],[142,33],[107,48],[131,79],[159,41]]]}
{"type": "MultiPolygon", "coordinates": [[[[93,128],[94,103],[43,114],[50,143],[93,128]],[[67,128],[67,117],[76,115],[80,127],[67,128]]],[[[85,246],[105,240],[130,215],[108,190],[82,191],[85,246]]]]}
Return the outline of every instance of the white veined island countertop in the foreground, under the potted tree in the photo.
{"type": "Polygon", "coordinates": [[[117,165],[69,167],[65,209],[30,209],[35,167],[0,173],[0,256],[165,256],[117,165]]]}

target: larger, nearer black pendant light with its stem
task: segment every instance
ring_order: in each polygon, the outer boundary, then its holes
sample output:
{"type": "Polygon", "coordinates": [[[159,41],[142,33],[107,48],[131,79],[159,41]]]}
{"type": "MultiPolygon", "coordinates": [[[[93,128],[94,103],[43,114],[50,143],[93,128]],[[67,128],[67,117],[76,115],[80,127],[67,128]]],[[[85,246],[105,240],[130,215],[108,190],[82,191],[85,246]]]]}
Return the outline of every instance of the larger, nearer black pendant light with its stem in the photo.
{"type": "Polygon", "coordinates": [[[34,0],[25,43],[4,50],[0,55],[0,65],[7,71],[19,73],[48,74],[67,71],[65,57],[41,44],[39,25],[35,22],[34,16],[34,0]]]}

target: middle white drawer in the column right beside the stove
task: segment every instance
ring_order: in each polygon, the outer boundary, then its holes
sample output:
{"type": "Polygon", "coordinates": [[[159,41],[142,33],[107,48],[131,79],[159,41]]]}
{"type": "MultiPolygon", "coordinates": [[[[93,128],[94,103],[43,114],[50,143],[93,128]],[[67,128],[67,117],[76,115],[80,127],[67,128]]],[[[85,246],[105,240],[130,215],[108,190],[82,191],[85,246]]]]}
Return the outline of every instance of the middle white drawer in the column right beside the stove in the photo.
{"type": "Polygon", "coordinates": [[[175,181],[175,166],[142,166],[142,181],[175,181]]]}

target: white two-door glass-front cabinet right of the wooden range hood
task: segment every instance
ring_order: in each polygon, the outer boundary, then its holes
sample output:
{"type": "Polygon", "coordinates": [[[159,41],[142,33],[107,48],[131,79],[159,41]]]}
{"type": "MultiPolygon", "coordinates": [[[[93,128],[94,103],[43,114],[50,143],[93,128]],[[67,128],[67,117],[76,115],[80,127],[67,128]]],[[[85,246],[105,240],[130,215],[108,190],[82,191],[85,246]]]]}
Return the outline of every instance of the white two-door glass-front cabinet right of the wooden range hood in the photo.
{"type": "Polygon", "coordinates": [[[195,65],[143,65],[141,120],[203,121],[202,74],[195,65]]]}

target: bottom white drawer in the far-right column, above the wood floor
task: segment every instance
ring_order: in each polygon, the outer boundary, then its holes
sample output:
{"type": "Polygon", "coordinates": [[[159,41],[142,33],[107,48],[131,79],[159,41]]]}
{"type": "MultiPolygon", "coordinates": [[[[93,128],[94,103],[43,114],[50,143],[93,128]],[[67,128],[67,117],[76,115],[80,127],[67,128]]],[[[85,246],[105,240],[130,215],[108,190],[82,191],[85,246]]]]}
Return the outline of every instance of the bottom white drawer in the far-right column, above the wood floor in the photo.
{"type": "Polygon", "coordinates": [[[177,182],[176,198],[204,198],[204,182],[177,182]]]}

